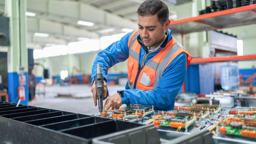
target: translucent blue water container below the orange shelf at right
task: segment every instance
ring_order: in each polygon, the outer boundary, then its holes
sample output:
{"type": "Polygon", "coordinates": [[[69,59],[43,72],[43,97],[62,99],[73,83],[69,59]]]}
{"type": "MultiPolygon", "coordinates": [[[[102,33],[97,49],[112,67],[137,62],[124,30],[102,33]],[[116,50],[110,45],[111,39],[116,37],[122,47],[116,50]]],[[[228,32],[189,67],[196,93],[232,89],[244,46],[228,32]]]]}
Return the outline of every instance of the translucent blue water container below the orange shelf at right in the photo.
{"type": "Polygon", "coordinates": [[[225,65],[220,67],[221,88],[224,90],[235,90],[239,86],[238,67],[225,65]]]}

